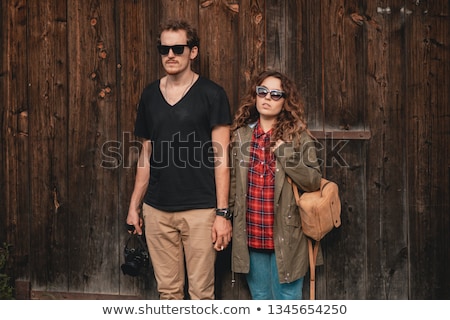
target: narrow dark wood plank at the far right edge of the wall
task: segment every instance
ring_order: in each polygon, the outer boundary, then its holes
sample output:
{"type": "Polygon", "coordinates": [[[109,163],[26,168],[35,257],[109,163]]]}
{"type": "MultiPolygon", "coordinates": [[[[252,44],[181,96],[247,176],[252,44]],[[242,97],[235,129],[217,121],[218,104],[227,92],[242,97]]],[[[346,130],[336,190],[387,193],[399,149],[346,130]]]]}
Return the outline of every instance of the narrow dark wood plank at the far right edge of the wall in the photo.
{"type": "MultiPolygon", "coordinates": [[[[423,4],[422,4],[423,5],[423,4]]],[[[432,129],[430,210],[433,223],[433,269],[431,299],[450,299],[450,3],[430,2],[423,13],[432,21],[430,34],[430,111],[432,129]],[[445,258],[447,257],[447,258],[445,258]]],[[[421,293],[414,287],[414,293],[421,293]]],[[[414,298],[419,298],[419,294],[414,298]]],[[[428,298],[428,296],[426,297],[428,298]]]]}

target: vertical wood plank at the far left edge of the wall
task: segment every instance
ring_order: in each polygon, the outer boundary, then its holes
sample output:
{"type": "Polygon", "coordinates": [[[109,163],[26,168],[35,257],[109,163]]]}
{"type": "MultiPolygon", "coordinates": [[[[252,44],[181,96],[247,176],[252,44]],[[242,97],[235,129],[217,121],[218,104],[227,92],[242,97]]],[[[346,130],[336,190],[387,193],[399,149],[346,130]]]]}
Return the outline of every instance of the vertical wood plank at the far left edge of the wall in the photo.
{"type": "MultiPolygon", "coordinates": [[[[2,70],[2,151],[5,163],[6,242],[11,244],[14,277],[30,277],[30,167],[27,76],[27,1],[5,3],[2,70]],[[4,130],[4,131],[3,131],[4,130]]],[[[3,15],[3,14],[2,14],[3,15]]]]}

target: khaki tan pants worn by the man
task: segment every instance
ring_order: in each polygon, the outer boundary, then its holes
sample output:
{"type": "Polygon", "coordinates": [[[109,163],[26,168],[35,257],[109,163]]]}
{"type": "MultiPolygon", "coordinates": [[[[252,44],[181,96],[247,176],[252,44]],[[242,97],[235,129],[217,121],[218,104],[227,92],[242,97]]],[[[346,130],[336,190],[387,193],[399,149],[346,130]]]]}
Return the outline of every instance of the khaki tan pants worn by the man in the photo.
{"type": "Polygon", "coordinates": [[[160,299],[184,299],[185,260],[190,298],[214,299],[215,209],[165,212],[144,204],[143,218],[160,299]]]}

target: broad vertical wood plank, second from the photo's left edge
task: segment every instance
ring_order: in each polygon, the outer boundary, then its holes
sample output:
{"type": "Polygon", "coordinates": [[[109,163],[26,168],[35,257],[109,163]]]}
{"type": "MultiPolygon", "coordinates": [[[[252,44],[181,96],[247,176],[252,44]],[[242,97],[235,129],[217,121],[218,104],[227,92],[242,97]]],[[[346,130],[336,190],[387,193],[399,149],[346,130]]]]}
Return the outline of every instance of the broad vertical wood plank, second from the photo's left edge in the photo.
{"type": "Polygon", "coordinates": [[[28,5],[30,261],[36,289],[68,289],[66,12],[65,1],[28,5]]]}

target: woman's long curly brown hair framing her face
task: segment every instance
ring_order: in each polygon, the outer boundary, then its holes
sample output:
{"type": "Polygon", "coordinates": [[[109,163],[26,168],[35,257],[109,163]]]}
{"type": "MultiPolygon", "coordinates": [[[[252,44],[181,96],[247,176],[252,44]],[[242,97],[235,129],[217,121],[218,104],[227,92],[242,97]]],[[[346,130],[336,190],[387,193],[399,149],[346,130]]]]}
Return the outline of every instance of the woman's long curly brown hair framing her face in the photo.
{"type": "Polygon", "coordinates": [[[298,141],[303,131],[309,133],[304,104],[295,83],[286,75],[274,70],[263,71],[253,78],[247,93],[241,99],[241,104],[234,115],[231,131],[233,132],[240,127],[255,123],[258,120],[259,112],[256,109],[256,86],[261,85],[268,77],[280,79],[281,89],[285,93],[283,107],[273,125],[272,142],[275,143],[280,139],[285,142],[298,141]]]}

